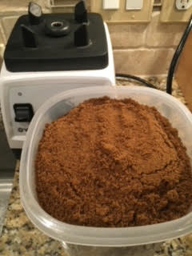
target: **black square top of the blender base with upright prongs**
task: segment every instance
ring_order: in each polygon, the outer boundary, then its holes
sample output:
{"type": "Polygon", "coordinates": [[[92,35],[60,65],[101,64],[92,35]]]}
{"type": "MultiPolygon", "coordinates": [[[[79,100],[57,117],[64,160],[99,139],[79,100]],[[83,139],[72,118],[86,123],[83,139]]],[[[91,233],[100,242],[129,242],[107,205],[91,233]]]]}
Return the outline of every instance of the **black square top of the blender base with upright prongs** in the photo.
{"type": "Polygon", "coordinates": [[[30,2],[18,18],[4,54],[11,72],[99,70],[108,65],[106,32],[100,14],[87,14],[83,1],[74,14],[42,14],[30,2]]]}

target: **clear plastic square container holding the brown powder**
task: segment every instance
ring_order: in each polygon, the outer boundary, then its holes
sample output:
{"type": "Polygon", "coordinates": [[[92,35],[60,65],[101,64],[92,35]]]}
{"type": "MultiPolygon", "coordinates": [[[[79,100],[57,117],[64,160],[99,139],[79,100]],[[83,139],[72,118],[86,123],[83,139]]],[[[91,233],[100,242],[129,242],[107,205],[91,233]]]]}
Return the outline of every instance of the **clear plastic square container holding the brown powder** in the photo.
{"type": "MultiPolygon", "coordinates": [[[[46,123],[52,122],[88,98],[133,98],[148,106],[155,106],[172,126],[178,129],[192,162],[192,114],[176,98],[160,90],[140,86],[105,86],[68,90],[50,98],[42,105],[30,124],[22,150],[20,167],[20,194],[22,206],[30,221],[48,236],[86,246],[134,246],[161,242],[192,232],[192,209],[182,218],[160,224],[124,228],[74,226],[59,222],[46,214],[38,204],[34,180],[34,159],[38,142],[46,123]]],[[[191,188],[192,189],[192,188],[191,188]]]]}

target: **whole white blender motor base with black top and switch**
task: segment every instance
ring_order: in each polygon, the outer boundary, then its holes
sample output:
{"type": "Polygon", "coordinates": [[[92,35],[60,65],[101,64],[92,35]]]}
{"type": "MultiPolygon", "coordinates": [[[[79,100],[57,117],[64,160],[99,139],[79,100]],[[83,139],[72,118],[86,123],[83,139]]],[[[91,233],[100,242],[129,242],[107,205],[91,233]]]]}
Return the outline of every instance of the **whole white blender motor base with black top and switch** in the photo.
{"type": "Polygon", "coordinates": [[[83,1],[74,14],[42,14],[30,2],[6,44],[0,76],[2,119],[19,155],[35,112],[54,94],[88,86],[114,86],[110,35],[100,14],[83,1]]]}

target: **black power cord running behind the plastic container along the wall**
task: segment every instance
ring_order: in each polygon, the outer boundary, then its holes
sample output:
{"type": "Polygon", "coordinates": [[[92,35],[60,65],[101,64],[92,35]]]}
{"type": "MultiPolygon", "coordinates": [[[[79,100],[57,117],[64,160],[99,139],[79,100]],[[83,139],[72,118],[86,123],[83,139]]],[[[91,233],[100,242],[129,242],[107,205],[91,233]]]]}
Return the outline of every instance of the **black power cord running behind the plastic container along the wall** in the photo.
{"type": "MultiPolygon", "coordinates": [[[[167,94],[171,94],[171,92],[172,92],[172,82],[173,82],[173,78],[174,78],[175,66],[178,62],[178,58],[180,57],[180,54],[182,53],[182,49],[185,46],[186,39],[188,38],[188,35],[190,34],[191,28],[192,28],[192,15],[190,17],[190,21],[188,22],[188,24],[186,26],[186,30],[182,35],[182,39],[179,42],[178,47],[174,52],[174,57],[172,58],[172,60],[170,62],[170,68],[169,68],[168,75],[167,75],[167,80],[166,80],[166,92],[167,92],[167,94]]],[[[132,79],[132,80],[136,80],[138,82],[142,82],[147,87],[156,88],[152,83],[146,81],[145,79],[136,77],[136,76],[131,75],[131,74],[116,74],[116,78],[132,79]]]]}

